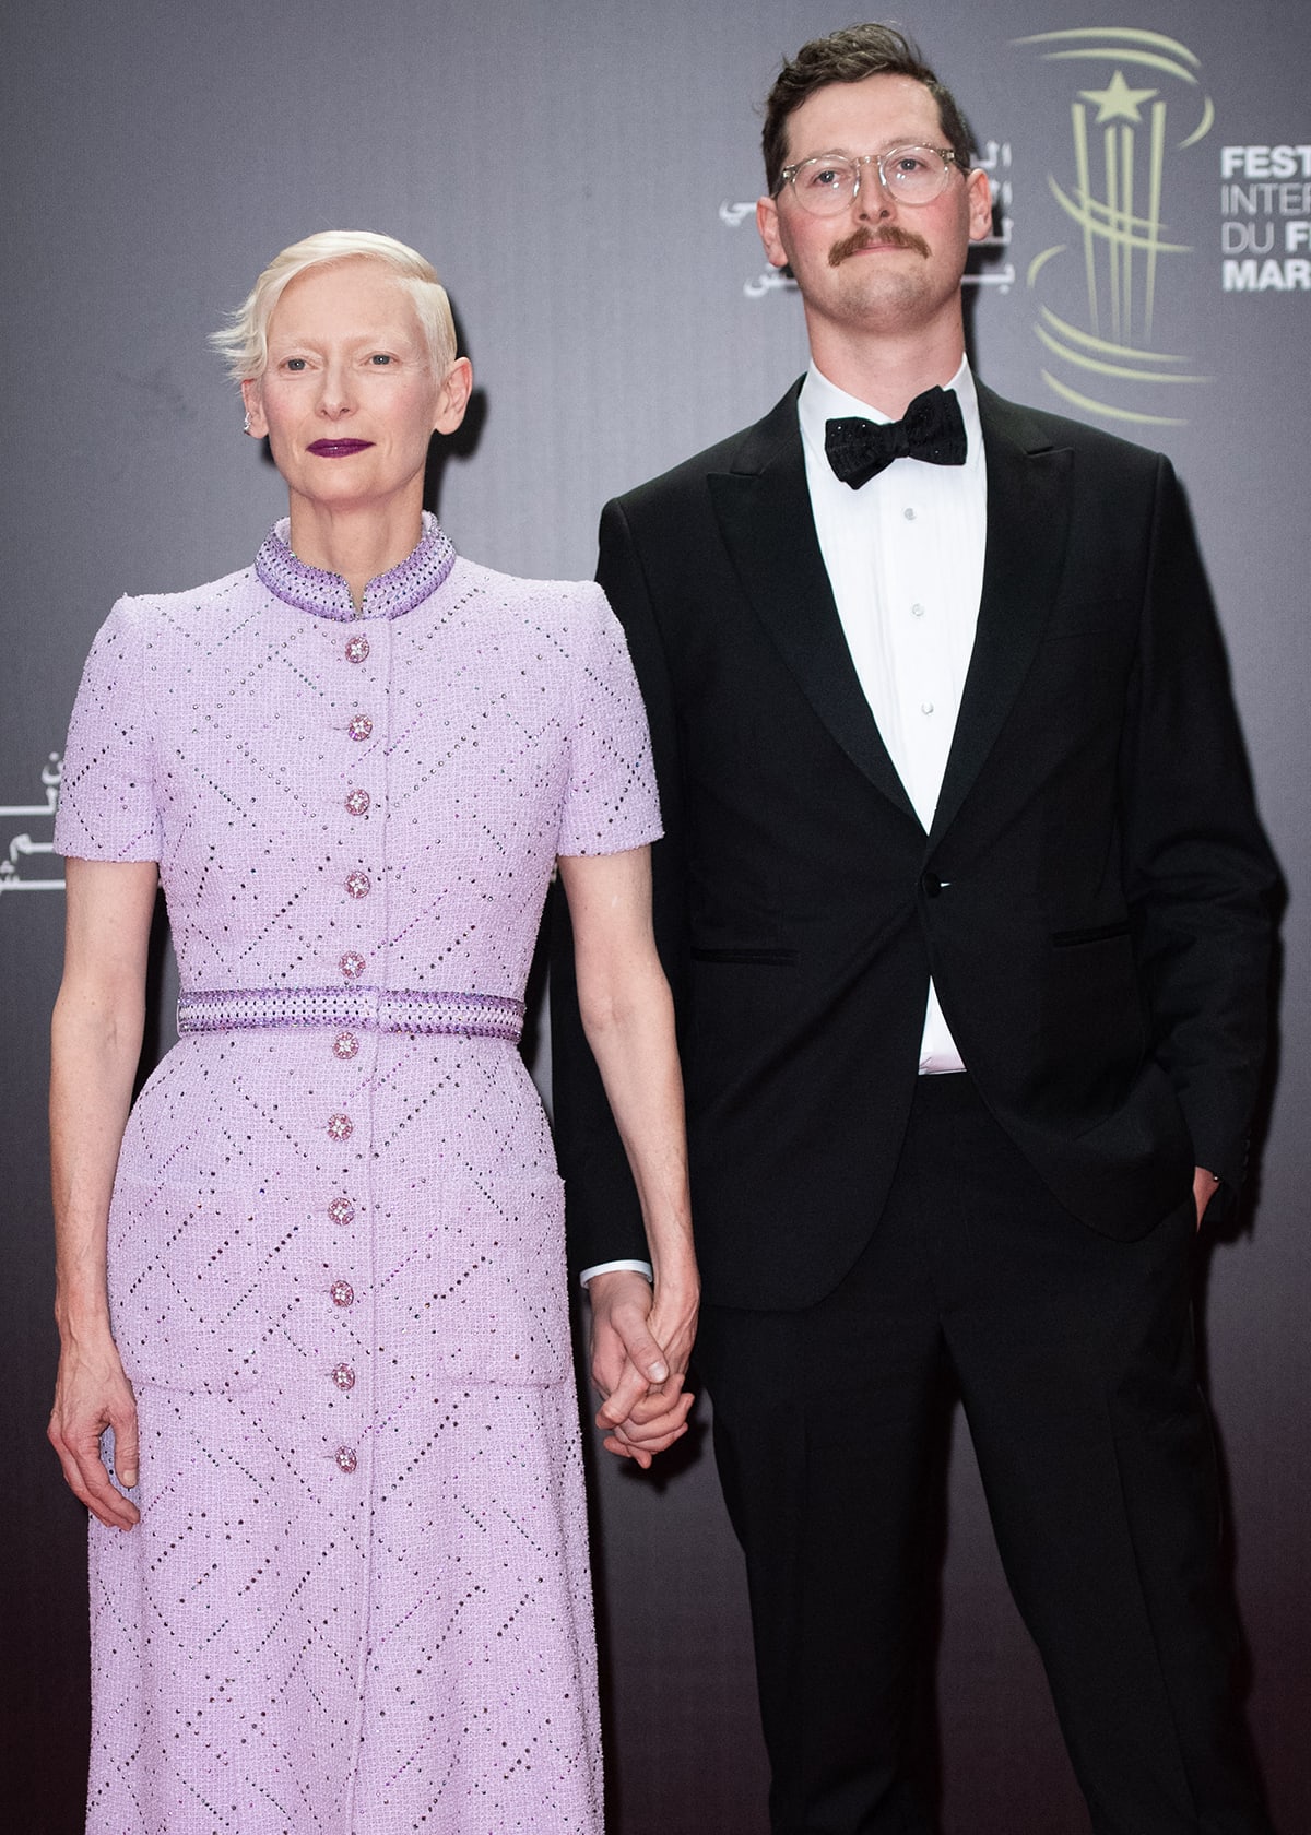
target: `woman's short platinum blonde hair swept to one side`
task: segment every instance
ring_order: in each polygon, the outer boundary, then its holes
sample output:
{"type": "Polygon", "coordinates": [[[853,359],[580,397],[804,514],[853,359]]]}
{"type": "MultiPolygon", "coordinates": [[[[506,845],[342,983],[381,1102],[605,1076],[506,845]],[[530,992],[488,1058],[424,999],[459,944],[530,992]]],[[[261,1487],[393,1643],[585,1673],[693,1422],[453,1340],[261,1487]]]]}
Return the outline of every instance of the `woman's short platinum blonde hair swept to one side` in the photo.
{"type": "Polygon", "coordinates": [[[380,261],[391,268],[415,303],[419,323],[428,341],[433,374],[444,376],[455,361],[455,321],[446,288],[437,270],[413,248],[373,229],[319,229],[303,242],[292,242],[274,255],[253,288],[233,312],[231,325],[209,334],[209,343],[228,360],[233,382],[253,382],[268,363],[268,321],[283,292],[307,268],[323,268],[338,261],[380,261]]]}

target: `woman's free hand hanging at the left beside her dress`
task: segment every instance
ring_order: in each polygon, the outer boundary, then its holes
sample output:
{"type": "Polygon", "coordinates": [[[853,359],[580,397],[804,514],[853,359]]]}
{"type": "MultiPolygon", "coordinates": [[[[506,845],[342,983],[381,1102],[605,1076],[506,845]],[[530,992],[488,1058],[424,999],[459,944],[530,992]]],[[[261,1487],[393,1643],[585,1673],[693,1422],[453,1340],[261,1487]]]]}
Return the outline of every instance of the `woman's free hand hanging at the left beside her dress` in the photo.
{"type": "Polygon", "coordinates": [[[101,1459],[101,1433],[114,1429],[114,1474],[127,1490],[138,1481],[136,1396],[123,1374],[108,1329],[86,1340],[64,1338],[55,1406],[46,1435],[75,1497],[106,1529],[132,1529],[141,1512],[112,1483],[101,1459]]]}

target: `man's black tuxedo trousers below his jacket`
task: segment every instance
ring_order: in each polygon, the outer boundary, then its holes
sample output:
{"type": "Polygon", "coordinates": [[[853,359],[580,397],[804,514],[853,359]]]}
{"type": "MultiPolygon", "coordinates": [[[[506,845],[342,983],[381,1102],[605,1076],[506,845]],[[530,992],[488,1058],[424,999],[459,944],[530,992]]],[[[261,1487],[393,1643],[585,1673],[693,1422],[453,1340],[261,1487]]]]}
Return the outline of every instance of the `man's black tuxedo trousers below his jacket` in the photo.
{"type": "MultiPolygon", "coordinates": [[[[911,1707],[944,1360],[1096,1835],[1269,1835],[1230,1694],[1193,1222],[1188,1198],[1138,1242],[1096,1235],[968,1077],[922,1077],[839,1288],[804,1312],[705,1310],[775,1835],[936,1828],[911,1707]]],[[[823,1228],[823,1193],[797,1228],[823,1228]]]]}

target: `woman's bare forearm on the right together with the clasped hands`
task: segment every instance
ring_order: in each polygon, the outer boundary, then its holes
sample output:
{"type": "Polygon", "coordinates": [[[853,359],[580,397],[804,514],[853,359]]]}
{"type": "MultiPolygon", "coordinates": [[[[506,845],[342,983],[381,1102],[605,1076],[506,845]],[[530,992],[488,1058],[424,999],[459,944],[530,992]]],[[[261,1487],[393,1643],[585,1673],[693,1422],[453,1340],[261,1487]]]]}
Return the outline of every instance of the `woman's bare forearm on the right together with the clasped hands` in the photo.
{"type": "Polygon", "coordinates": [[[641,1275],[602,1273],[591,1283],[593,1378],[604,1396],[597,1424],[608,1429],[611,1451],[646,1466],[687,1431],[692,1398],[683,1378],[700,1303],[683,1077],[674,1002],[652,932],[650,848],[562,855],[560,879],[578,1011],[637,1185],[656,1283],[644,1319],[644,1307],[632,1301],[635,1284],[644,1286],[641,1275]],[[650,1358],[641,1360],[646,1369],[633,1362],[633,1341],[644,1334],[663,1352],[663,1376],[650,1374],[650,1358]]]}

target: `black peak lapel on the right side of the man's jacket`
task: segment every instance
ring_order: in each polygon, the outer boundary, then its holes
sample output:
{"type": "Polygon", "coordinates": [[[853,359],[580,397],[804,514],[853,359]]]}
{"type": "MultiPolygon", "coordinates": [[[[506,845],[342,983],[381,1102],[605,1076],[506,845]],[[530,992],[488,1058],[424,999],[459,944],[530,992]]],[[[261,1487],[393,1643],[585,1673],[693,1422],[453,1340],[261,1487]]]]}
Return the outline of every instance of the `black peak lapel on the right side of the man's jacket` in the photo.
{"type": "Polygon", "coordinates": [[[955,820],[1034,661],[1065,560],[1070,453],[1036,435],[1023,409],[979,387],[988,462],[988,543],[979,626],[929,831],[955,820]]]}

